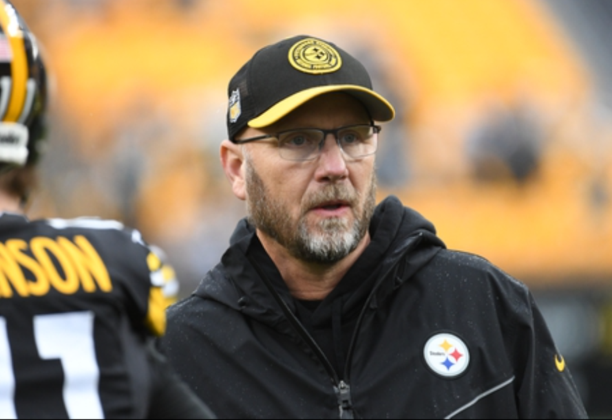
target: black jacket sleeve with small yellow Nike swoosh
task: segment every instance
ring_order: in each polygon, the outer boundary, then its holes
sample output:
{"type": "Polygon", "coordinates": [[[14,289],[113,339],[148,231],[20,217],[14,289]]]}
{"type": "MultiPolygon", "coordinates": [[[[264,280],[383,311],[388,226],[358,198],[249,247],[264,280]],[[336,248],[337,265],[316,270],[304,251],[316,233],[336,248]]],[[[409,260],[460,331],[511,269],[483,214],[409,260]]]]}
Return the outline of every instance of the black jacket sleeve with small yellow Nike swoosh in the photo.
{"type": "Polygon", "coordinates": [[[515,342],[516,393],[524,419],[587,419],[569,366],[558,350],[531,292],[525,290],[529,313],[520,322],[515,342]]]}

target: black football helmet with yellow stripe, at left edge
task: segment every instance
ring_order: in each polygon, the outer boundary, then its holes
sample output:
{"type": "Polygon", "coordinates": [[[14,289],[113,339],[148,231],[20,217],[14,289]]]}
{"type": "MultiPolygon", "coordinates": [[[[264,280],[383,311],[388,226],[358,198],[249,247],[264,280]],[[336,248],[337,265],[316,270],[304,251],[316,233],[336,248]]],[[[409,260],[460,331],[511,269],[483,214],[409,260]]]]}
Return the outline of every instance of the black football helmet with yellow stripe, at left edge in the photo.
{"type": "Polygon", "coordinates": [[[36,38],[0,0],[0,165],[35,164],[45,137],[47,74],[36,38]]]}

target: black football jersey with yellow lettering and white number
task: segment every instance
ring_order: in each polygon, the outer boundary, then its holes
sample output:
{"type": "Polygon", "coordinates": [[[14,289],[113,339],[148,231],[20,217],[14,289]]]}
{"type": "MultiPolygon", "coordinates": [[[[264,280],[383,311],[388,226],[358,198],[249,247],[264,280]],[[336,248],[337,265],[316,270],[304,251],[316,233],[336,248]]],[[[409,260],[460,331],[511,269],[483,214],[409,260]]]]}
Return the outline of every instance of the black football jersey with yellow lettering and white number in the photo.
{"type": "Polygon", "coordinates": [[[0,418],[145,417],[164,272],[117,221],[0,213],[0,418]]]}

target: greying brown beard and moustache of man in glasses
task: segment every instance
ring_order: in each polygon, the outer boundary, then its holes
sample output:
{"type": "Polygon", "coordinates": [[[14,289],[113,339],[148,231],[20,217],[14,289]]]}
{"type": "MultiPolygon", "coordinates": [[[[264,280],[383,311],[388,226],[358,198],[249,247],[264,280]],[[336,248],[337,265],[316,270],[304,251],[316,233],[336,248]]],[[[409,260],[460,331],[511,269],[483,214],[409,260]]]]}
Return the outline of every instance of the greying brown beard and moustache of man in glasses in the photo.
{"type": "MultiPolygon", "coordinates": [[[[246,191],[249,222],[255,228],[270,236],[285,247],[291,256],[308,263],[331,265],[341,261],[353,252],[370,226],[370,219],[376,207],[376,175],[372,173],[368,197],[361,214],[355,214],[355,222],[329,218],[309,228],[305,213],[296,221],[289,215],[284,204],[271,197],[253,165],[246,160],[246,191]]],[[[345,185],[330,184],[306,197],[302,208],[309,209],[318,203],[341,199],[351,204],[353,211],[358,208],[361,197],[345,185]]]]}

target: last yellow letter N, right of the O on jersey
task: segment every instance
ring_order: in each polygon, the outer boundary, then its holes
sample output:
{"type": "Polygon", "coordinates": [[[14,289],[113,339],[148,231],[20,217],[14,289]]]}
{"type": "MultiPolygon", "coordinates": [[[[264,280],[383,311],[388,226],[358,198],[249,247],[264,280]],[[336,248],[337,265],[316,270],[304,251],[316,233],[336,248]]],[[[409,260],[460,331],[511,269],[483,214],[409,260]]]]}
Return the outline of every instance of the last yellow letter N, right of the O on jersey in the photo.
{"type": "Polygon", "coordinates": [[[92,293],[96,291],[97,284],[102,291],[112,291],[113,284],[106,265],[85,236],[75,236],[74,243],[63,237],[59,237],[57,241],[72,259],[78,276],[81,278],[83,290],[92,293]]]}

